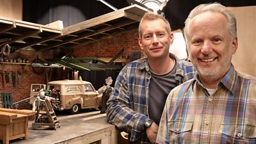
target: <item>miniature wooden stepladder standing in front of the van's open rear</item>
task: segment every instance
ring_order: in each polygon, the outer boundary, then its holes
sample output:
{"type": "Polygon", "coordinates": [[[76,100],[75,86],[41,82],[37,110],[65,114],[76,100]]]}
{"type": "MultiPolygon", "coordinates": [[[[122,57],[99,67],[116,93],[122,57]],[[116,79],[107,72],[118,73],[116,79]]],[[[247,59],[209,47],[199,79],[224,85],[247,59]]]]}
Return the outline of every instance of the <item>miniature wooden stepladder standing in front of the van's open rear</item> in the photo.
{"type": "Polygon", "coordinates": [[[40,129],[50,127],[54,130],[60,127],[60,122],[57,120],[51,102],[48,99],[41,99],[36,97],[36,118],[32,123],[32,129],[40,129]]]}

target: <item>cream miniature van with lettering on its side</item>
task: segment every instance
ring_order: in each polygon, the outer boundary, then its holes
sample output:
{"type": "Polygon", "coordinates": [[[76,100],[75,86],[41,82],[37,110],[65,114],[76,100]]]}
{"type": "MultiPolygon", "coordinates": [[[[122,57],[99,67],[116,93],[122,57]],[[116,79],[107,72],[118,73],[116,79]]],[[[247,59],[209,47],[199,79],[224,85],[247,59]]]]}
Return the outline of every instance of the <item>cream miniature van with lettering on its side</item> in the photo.
{"type": "Polygon", "coordinates": [[[52,107],[57,110],[70,110],[76,114],[80,109],[100,108],[102,93],[98,93],[92,83],[79,80],[51,81],[47,95],[54,97],[52,107]]]}

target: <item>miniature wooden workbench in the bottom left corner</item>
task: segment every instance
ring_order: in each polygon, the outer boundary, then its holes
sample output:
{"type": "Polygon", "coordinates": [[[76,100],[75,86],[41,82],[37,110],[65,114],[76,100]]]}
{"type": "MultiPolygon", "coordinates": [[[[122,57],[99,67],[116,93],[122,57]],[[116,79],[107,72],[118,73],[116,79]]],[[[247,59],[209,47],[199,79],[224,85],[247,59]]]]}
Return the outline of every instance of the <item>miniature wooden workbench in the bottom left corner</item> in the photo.
{"type": "Polygon", "coordinates": [[[35,118],[35,112],[0,108],[0,140],[9,144],[17,138],[28,139],[28,120],[35,118]]]}

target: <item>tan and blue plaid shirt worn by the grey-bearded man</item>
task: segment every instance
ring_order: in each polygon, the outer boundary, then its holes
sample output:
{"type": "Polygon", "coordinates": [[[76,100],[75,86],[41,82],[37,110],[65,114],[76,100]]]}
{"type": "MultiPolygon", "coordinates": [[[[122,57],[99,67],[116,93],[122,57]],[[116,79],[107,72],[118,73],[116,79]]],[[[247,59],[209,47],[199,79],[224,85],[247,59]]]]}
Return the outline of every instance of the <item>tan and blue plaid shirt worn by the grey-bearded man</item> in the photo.
{"type": "Polygon", "coordinates": [[[173,88],[157,143],[256,143],[256,78],[232,65],[212,95],[197,74],[173,88]]]}

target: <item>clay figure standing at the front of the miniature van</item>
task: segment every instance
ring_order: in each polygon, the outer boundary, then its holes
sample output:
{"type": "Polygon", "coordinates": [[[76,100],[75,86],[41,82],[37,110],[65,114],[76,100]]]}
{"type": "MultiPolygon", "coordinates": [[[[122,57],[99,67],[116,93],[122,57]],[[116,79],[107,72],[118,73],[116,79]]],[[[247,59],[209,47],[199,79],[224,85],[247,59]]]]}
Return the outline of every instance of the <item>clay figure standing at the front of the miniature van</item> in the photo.
{"type": "Polygon", "coordinates": [[[102,86],[98,90],[99,93],[102,93],[102,104],[101,104],[100,113],[106,113],[107,101],[108,101],[109,96],[111,95],[111,92],[113,90],[113,88],[110,86],[110,84],[112,84],[112,82],[113,82],[112,78],[108,77],[107,79],[105,79],[105,81],[106,81],[107,85],[102,86]]]}

